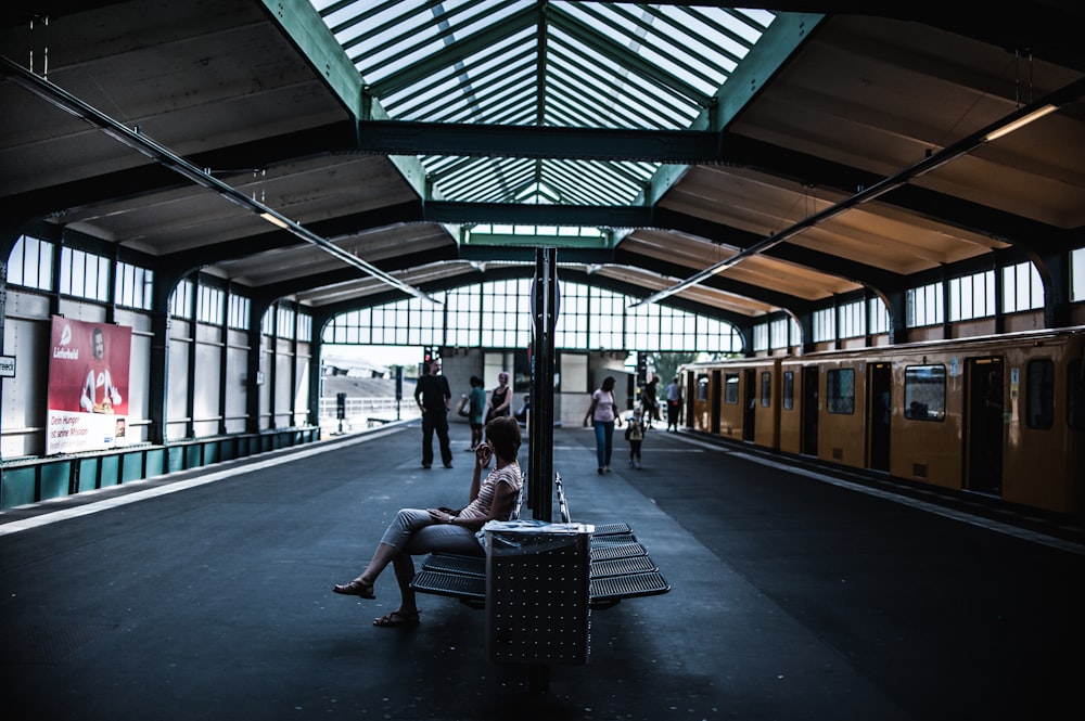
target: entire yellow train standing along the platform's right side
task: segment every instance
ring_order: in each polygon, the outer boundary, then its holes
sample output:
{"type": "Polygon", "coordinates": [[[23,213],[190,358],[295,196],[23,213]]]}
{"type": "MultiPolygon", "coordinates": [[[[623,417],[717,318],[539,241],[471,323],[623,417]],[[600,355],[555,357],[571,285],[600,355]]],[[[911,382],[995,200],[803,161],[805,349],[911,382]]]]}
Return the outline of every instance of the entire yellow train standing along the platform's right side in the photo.
{"type": "Polygon", "coordinates": [[[1031,508],[1085,511],[1085,326],[682,366],[685,424],[1031,508]]]}

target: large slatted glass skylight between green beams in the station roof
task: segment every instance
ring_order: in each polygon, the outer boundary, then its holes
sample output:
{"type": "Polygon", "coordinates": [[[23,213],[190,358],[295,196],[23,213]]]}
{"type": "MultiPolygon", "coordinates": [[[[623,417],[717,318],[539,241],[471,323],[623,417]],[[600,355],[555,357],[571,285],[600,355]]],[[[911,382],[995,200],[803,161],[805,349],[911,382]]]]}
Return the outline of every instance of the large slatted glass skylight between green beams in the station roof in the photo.
{"type": "MultiPolygon", "coordinates": [[[[560,0],[312,0],[388,117],[682,130],[770,12],[560,0]]],[[[444,199],[628,205],[659,164],[421,156],[444,199]]]]}

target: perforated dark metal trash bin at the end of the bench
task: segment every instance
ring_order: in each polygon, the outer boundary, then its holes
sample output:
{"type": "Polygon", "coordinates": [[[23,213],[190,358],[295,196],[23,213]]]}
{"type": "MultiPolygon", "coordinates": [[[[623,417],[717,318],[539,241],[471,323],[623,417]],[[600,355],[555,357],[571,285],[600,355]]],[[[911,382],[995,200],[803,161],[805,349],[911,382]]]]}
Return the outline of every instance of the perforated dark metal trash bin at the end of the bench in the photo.
{"type": "Polygon", "coordinates": [[[493,661],[587,662],[592,530],[586,524],[486,524],[486,641],[493,661]]]}

